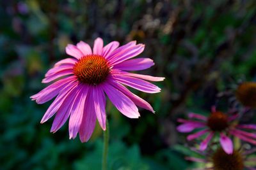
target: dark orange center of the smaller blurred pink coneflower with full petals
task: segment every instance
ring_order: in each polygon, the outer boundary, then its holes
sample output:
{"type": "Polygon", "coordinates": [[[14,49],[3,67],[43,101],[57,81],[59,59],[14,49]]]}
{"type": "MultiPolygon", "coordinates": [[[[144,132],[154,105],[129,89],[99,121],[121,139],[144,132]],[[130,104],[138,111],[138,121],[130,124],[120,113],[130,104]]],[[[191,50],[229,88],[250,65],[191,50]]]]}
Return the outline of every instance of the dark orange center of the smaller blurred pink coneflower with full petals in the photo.
{"type": "Polygon", "coordinates": [[[207,120],[207,125],[212,131],[223,131],[228,127],[227,115],[220,111],[211,113],[207,120]]]}

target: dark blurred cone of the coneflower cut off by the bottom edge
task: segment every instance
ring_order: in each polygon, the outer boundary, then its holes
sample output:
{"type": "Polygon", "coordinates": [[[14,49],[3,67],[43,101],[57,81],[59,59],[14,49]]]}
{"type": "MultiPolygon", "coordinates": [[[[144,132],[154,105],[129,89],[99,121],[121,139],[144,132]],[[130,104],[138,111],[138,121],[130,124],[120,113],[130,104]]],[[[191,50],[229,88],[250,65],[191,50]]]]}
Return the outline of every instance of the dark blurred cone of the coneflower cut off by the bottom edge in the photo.
{"type": "Polygon", "coordinates": [[[241,153],[236,150],[228,155],[223,151],[222,148],[219,148],[212,155],[212,162],[214,170],[243,170],[244,169],[244,161],[241,153]]]}

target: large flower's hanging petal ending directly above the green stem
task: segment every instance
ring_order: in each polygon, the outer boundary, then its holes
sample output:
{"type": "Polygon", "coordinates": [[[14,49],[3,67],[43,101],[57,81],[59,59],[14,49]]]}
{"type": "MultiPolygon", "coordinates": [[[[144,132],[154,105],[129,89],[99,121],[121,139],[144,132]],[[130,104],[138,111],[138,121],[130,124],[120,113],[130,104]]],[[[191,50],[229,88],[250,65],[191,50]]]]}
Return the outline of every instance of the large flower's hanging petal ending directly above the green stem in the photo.
{"type": "Polygon", "coordinates": [[[102,87],[93,87],[93,98],[95,113],[98,118],[101,128],[106,130],[106,97],[102,90],[102,87]]]}

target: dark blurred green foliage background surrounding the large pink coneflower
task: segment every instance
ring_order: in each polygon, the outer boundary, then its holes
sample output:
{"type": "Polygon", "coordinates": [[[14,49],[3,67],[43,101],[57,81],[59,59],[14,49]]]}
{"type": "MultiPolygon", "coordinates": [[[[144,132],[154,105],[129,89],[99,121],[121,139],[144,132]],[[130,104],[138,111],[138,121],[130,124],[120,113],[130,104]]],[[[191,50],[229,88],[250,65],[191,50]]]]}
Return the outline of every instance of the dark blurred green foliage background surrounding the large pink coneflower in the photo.
{"type": "Polygon", "coordinates": [[[65,46],[137,40],[140,57],[155,66],[143,74],[164,76],[162,92],[144,94],[156,110],[132,120],[108,103],[109,169],[189,169],[186,136],[177,117],[205,113],[219,92],[256,80],[255,0],[0,1],[0,169],[100,169],[102,130],[81,143],[65,124],[51,134],[40,124],[47,104],[29,96],[46,87],[42,78],[65,59],[65,46]]]}

